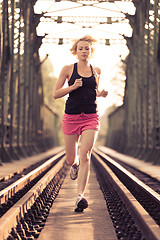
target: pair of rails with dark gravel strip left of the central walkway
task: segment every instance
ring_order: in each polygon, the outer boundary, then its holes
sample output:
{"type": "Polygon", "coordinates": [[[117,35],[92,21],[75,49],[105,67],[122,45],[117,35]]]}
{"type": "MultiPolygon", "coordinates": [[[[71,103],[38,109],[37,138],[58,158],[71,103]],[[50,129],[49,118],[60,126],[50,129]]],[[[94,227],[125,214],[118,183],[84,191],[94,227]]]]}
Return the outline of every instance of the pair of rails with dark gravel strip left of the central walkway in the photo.
{"type": "Polygon", "coordinates": [[[0,240],[39,236],[67,170],[61,151],[0,191],[0,240]]]}

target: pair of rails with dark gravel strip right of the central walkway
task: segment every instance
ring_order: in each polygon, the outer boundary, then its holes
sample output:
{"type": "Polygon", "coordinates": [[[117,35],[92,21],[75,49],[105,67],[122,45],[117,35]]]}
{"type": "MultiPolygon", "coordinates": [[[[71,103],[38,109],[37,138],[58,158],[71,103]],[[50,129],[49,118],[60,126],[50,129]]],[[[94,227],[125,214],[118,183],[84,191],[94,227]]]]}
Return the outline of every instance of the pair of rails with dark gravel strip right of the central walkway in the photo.
{"type": "Polygon", "coordinates": [[[160,195],[102,151],[94,149],[92,156],[117,238],[160,239],[160,195]]]}

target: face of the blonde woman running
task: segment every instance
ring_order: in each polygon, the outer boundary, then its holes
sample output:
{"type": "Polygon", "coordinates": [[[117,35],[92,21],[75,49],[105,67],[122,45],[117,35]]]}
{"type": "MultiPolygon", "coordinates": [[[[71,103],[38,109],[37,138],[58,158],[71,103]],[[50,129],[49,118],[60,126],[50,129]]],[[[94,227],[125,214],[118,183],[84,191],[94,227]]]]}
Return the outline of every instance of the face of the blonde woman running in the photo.
{"type": "Polygon", "coordinates": [[[77,57],[79,60],[89,60],[91,53],[91,45],[87,41],[80,41],[77,43],[77,57]]]}

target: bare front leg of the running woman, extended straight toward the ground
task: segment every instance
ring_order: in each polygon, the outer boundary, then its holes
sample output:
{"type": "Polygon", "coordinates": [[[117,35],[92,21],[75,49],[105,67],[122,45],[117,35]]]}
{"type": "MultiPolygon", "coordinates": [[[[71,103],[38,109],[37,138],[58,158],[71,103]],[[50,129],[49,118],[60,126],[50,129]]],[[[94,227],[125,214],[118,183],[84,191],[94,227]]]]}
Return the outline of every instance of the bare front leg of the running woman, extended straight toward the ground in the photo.
{"type": "Polygon", "coordinates": [[[80,144],[80,167],[78,173],[77,194],[84,194],[89,173],[90,173],[90,156],[92,147],[95,143],[98,131],[87,129],[82,132],[80,144]]]}

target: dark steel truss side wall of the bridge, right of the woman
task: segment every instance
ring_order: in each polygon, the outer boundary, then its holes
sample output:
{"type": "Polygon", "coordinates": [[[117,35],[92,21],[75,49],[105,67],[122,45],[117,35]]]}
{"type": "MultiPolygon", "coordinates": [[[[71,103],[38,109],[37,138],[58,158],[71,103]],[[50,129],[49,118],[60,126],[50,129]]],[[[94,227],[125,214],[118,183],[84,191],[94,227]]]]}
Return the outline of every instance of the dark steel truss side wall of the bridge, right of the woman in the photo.
{"type": "MultiPolygon", "coordinates": [[[[133,35],[126,37],[130,53],[125,61],[123,124],[116,130],[111,124],[107,141],[110,147],[160,163],[160,3],[133,2],[136,14],[127,15],[133,35]]],[[[120,110],[110,115],[110,122],[116,122],[115,117],[121,119],[120,110]]]]}

